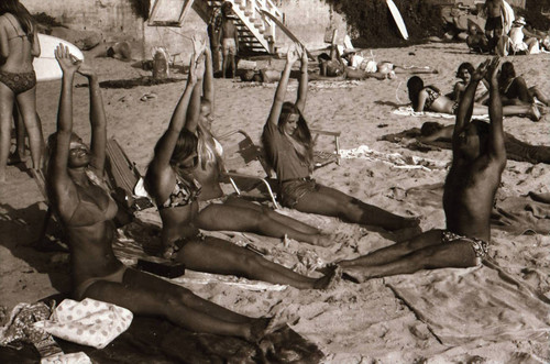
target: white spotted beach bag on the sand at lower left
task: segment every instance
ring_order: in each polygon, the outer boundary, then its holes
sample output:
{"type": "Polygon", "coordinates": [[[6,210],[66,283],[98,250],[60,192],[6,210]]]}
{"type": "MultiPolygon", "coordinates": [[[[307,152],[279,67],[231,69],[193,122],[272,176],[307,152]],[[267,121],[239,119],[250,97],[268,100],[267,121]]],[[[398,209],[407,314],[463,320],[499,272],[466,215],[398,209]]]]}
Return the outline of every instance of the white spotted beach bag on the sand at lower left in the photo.
{"type": "Polygon", "coordinates": [[[35,322],[36,328],[80,345],[103,349],[132,323],[130,310],[113,304],[85,298],[64,299],[50,320],[35,322]]]}

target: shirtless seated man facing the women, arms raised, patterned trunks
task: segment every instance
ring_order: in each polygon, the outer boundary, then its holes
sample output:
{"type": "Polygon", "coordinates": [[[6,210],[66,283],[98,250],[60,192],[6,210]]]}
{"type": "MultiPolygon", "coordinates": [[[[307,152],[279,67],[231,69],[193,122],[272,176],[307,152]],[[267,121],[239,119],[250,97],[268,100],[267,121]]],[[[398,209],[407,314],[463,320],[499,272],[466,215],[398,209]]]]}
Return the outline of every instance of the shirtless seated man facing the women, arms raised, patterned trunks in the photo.
{"type": "Polygon", "coordinates": [[[472,267],[485,257],[493,201],[506,166],[498,63],[495,57],[477,67],[459,104],[452,135],[453,161],[443,191],[447,229],[430,230],[358,258],[338,262],[344,274],[364,282],[420,269],[472,267]],[[471,121],[475,89],[485,75],[490,76],[488,124],[471,121]]]}

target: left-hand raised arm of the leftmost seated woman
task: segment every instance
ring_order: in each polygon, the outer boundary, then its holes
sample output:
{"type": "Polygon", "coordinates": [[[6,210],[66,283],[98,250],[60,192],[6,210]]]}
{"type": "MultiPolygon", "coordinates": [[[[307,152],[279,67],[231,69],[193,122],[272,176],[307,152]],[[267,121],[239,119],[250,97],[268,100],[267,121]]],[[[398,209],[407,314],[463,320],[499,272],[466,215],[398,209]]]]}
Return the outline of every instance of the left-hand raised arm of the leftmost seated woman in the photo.
{"type": "Polygon", "coordinates": [[[73,134],[73,80],[80,64],[74,62],[68,48],[62,44],[55,49],[55,58],[63,70],[63,78],[57,112],[57,133],[52,148],[47,179],[63,217],[70,216],[70,211],[66,209],[69,209],[72,203],[66,202],[70,200],[72,195],[76,194],[76,187],[67,173],[67,163],[73,134]]]}

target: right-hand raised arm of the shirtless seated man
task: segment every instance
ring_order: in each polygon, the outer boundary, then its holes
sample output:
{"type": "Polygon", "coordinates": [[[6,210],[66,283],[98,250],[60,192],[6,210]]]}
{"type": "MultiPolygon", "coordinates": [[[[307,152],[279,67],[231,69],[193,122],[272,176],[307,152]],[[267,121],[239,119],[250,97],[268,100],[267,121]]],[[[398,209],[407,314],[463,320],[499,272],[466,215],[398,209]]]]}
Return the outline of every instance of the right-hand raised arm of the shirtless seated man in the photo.
{"type": "Polygon", "coordinates": [[[488,137],[487,153],[492,157],[505,161],[506,148],[504,146],[503,103],[501,101],[501,92],[498,92],[499,63],[501,59],[494,57],[487,71],[490,75],[488,118],[491,120],[491,135],[488,137]]]}

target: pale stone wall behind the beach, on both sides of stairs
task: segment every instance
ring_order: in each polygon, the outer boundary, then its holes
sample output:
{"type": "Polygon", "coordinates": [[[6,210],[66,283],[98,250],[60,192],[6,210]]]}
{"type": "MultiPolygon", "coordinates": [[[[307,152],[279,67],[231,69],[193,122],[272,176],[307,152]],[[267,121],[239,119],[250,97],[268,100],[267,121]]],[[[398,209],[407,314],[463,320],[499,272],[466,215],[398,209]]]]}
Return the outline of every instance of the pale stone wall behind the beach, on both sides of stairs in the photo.
{"type": "MultiPolygon", "coordinates": [[[[133,42],[134,57],[150,58],[154,46],[164,46],[172,54],[180,53],[184,62],[187,62],[191,52],[190,35],[195,31],[206,34],[206,23],[193,9],[189,10],[180,27],[150,26],[134,13],[129,0],[21,0],[21,2],[31,13],[44,12],[69,29],[99,32],[105,42],[133,42]]],[[[274,2],[284,13],[285,24],[307,47],[311,49],[326,47],[324,31],[331,24],[338,29],[338,41],[342,43],[345,23],[341,15],[330,11],[330,7],[323,0],[275,0],[274,2]]],[[[280,30],[277,30],[276,40],[276,46],[282,52],[293,44],[280,30]]]]}

